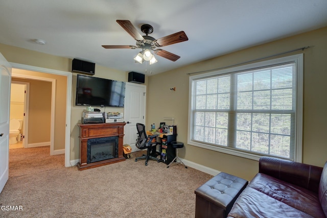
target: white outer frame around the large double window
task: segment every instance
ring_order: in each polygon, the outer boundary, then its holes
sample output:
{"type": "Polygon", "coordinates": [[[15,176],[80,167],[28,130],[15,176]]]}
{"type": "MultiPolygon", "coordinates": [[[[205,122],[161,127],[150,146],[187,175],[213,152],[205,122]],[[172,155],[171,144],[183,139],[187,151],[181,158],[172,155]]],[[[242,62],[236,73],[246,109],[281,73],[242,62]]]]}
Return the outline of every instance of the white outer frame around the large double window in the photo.
{"type": "Polygon", "coordinates": [[[268,156],[268,155],[260,155],[255,154],[251,152],[246,152],[243,150],[237,150],[232,147],[223,147],[223,146],[216,146],[213,144],[200,142],[192,140],[192,134],[193,134],[193,107],[194,107],[194,101],[193,101],[193,86],[194,81],[199,79],[205,79],[213,76],[218,75],[224,75],[224,74],[231,74],[234,72],[240,72],[240,71],[246,71],[246,70],[252,70],[256,68],[263,68],[263,67],[269,67],[272,65],[280,65],[280,64],[286,64],[294,62],[295,68],[296,68],[296,79],[295,79],[295,86],[296,86],[296,96],[295,96],[295,145],[294,145],[294,161],[296,162],[302,162],[302,131],[303,131],[303,54],[297,54],[282,58],[276,58],[271,59],[267,61],[261,61],[256,62],[252,64],[246,64],[236,67],[230,67],[230,68],[223,68],[219,70],[215,70],[212,72],[207,72],[204,74],[198,74],[195,76],[190,76],[189,78],[189,125],[188,125],[188,144],[191,146],[196,146],[212,151],[217,151],[225,154],[235,155],[243,158],[248,158],[252,160],[259,160],[262,156],[268,156]]]}

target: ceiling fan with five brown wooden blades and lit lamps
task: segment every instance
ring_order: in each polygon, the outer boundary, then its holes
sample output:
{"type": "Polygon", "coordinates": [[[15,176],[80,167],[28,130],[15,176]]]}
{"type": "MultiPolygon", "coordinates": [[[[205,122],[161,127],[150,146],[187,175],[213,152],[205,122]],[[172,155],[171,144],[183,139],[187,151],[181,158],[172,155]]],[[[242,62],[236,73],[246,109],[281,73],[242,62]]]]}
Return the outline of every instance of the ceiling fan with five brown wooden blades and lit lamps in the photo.
{"type": "Polygon", "coordinates": [[[158,49],[158,47],[189,40],[189,38],[186,36],[184,31],[180,31],[168,36],[164,36],[159,39],[155,39],[151,36],[148,36],[148,34],[153,32],[153,27],[148,24],[141,26],[141,31],[146,34],[145,36],[142,36],[134,28],[134,26],[129,20],[116,20],[116,21],[119,23],[120,26],[122,26],[122,28],[124,28],[124,30],[127,33],[129,33],[129,35],[131,35],[136,40],[136,46],[135,45],[102,45],[102,47],[104,47],[105,49],[142,49],[142,52],[140,52],[134,58],[134,60],[138,61],[139,63],[142,63],[144,60],[150,61],[150,64],[153,63],[151,62],[151,58],[154,58],[154,56],[151,54],[150,51],[153,51],[156,55],[161,56],[163,58],[167,58],[171,61],[176,61],[180,58],[180,56],[167,52],[162,49],[158,49]]]}

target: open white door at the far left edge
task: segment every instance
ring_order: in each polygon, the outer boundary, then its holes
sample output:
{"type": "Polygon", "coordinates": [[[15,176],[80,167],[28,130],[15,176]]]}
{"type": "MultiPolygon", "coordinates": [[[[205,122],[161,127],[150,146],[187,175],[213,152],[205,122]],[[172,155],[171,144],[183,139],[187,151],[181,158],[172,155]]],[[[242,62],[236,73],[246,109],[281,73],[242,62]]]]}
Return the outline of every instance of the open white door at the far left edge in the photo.
{"type": "Polygon", "coordinates": [[[9,178],[9,114],[11,67],[0,53],[0,192],[9,178]]]}

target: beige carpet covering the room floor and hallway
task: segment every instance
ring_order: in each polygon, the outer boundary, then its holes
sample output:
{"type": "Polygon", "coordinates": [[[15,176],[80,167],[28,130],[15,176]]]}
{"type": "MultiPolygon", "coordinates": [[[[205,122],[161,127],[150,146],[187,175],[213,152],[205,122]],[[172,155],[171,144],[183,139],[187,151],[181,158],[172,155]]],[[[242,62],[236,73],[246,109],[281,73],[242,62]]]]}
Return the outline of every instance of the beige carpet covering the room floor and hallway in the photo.
{"type": "Polygon", "coordinates": [[[10,150],[0,208],[22,211],[0,209],[0,217],[194,217],[194,190],[212,178],[134,158],[78,171],[64,167],[64,155],[49,154],[49,147],[10,150]]]}

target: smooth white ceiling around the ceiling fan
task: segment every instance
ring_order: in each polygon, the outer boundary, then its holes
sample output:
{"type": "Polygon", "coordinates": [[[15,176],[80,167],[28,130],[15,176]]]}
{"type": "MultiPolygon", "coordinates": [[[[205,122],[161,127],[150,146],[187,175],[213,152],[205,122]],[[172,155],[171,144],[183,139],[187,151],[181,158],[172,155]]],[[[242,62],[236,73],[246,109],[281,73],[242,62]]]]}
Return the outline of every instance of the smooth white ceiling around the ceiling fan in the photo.
{"type": "Polygon", "coordinates": [[[150,76],[326,27],[327,0],[0,0],[0,20],[0,43],[150,76]],[[141,50],[101,46],[135,45],[116,19],[137,30],[148,23],[154,38],[184,31],[189,40],[161,47],[181,56],[176,62],[135,63],[141,50]]]}

